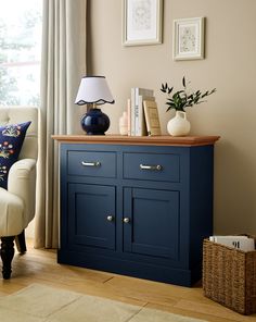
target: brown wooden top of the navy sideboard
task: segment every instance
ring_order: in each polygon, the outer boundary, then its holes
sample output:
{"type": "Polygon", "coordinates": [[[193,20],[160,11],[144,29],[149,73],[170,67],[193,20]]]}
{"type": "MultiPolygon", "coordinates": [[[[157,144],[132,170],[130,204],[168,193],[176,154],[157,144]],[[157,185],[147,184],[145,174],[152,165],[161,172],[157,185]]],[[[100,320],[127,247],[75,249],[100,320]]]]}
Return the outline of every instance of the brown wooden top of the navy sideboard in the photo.
{"type": "Polygon", "coordinates": [[[52,135],[59,143],[148,145],[148,146],[208,146],[214,145],[219,136],[121,136],[121,135],[52,135]]]}

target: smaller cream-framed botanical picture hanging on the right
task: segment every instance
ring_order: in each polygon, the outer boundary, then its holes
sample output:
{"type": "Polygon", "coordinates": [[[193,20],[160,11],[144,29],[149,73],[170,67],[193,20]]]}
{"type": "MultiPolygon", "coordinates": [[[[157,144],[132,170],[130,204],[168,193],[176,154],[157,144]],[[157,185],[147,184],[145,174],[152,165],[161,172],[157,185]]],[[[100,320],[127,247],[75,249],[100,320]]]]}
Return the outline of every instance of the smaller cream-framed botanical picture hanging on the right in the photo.
{"type": "Polygon", "coordinates": [[[174,21],[174,60],[204,59],[204,17],[174,21]]]}

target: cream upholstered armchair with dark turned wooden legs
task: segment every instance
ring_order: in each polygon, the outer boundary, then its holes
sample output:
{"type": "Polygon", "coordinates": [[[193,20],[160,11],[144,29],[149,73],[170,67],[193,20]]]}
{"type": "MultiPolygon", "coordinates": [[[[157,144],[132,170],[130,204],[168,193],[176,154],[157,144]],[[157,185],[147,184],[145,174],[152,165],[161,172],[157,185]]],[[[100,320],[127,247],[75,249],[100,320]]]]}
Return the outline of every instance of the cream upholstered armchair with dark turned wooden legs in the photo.
{"type": "Polygon", "coordinates": [[[8,189],[0,187],[0,237],[2,276],[11,276],[14,239],[20,253],[26,251],[24,230],[35,215],[38,109],[0,107],[0,126],[31,121],[16,161],[10,169],[8,189]]]}

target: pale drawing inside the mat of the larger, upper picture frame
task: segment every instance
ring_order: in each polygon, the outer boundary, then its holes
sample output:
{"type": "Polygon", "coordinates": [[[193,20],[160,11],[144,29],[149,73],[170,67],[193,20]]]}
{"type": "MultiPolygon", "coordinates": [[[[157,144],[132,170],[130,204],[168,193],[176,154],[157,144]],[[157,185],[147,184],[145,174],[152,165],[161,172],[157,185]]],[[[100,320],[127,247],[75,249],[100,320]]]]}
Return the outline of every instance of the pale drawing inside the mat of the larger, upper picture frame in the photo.
{"type": "Polygon", "coordinates": [[[148,30],[152,25],[151,0],[133,1],[132,27],[135,30],[148,30]]]}

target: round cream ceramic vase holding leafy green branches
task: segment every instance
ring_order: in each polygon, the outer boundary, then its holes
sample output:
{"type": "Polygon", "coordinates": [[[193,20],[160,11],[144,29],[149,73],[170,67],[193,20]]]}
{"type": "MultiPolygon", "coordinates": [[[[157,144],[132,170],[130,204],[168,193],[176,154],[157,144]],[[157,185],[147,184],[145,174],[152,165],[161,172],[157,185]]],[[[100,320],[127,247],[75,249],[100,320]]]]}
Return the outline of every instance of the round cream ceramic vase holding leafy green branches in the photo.
{"type": "Polygon", "coordinates": [[[185,112],[176,111],[175,117],[167,123],[167,131],[172,136],[184,136],[190,133],[190,122],[187,120],[185,112]]]}

